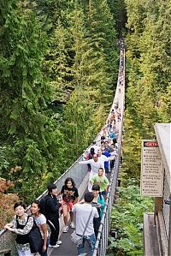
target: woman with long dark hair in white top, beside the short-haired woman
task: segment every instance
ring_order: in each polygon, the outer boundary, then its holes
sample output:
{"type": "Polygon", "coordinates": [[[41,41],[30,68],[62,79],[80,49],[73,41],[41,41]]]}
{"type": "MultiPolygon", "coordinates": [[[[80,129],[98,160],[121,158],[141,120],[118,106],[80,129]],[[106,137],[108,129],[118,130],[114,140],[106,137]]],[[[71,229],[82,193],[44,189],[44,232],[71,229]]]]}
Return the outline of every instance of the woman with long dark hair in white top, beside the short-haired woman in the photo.
{"type": "Polygon", "coordinates": [[[47,250],[49,246],[49,238],[48,238],[48,229],[46,224],[46,217],[44,217],[44,214],[40,213],[40,202],[38,200],[32,201],[31,204],[31,213],[34,217],[35,222],[38,225],[38,228],[40,229],[40,232],[42,234],[42,237],[44,238],[44,246],[42,248],[41,256],[48,256],[47,250]]]}

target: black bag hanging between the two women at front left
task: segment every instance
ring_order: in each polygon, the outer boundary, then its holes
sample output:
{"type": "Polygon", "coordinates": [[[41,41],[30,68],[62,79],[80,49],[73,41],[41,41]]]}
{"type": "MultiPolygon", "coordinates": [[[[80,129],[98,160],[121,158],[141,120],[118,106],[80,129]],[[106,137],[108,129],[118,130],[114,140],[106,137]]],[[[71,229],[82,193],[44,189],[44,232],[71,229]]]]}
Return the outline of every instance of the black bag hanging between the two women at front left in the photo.
{"type": "Polygon", "coordinates": [[[42,253],[44,240],[40,233],[37,223],[33,218],[33,226],[28,234],[31,253],[42,253]]]}

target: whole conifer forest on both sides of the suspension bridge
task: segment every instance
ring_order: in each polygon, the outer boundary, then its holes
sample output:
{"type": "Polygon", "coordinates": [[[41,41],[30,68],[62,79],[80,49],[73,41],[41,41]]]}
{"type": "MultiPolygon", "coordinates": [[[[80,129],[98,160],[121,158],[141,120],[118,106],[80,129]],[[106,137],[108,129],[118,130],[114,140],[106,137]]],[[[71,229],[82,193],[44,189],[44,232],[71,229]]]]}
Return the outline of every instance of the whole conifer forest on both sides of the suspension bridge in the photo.
{"type": "Polygon", "coordinates": [[[16,199],[29,204],[62,176],[103,127],[119,39],[126,45],[122,184],[139,186],[141,140],[154,139],[156,122],[171,122],[170,24],[170,0],[0,2],[2,220],[16,199]]]}

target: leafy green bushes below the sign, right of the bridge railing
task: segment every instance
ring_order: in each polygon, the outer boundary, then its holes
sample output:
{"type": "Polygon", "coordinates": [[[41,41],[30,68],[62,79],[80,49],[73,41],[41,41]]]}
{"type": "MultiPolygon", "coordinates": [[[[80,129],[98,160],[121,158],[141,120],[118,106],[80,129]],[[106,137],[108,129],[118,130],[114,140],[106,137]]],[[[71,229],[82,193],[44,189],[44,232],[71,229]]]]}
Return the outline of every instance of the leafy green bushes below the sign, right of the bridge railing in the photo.
{"type": "Polygon", "coordinates": [[[116,239],[109,237],[109,250],[115,255],[143,254],[143,213],[152,211],[153,202],[139,196],[139,186],[133,185],[134,182],[130,180],[127,188],[121,188],[120,198],[110,217],[110,228],[118,235],[116,239]]]}

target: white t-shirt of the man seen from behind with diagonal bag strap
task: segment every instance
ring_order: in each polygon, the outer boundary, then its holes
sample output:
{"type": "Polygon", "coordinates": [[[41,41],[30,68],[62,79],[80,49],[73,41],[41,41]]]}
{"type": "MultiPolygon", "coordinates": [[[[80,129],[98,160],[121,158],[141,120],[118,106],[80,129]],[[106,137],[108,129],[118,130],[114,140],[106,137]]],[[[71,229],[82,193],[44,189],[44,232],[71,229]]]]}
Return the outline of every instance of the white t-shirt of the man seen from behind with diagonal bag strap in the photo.
{"type": "Polygon", "coordinates": [[[99,217],[97,208],[91,206],[90,204],[75,204],[72,209],[73,212],[76,212],[76,225],[75,225],[75,231],[78,235],[83,235],[83,232],[85,230],[84,235],[92,235],[94,234],[94,227],[93,227],[93,218],[99,217]],[[91,212],[92,209],[92,212],[91,212]],[[85,229],[86,223],[88,221],[88,218],[91,214],[91,218],[89,220],[89,223],[85,229]]]}

